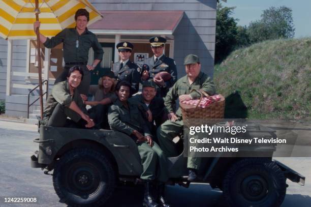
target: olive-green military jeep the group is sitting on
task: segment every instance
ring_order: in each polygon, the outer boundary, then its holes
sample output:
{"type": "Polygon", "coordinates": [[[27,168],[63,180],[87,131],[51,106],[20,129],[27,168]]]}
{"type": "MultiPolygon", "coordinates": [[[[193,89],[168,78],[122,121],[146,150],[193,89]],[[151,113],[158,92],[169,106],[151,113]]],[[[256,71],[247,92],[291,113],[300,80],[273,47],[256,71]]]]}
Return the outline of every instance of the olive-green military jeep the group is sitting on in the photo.
{"type": "MultiPolygon", "coordinates": [[[[260,126],[256,130],[263,131],[260,126]]],[[[264,129],[275,136],[274,131],[264,129]]],[[[255,131],[256,132],[256,131],[255,131]]],[[[31,166],[45,174],[53,170],[53,186],[70,206],[101,206],[120,183],[137,183],[142,165],[132,138],[112,130],[40,127],[39,151],[31,166]]],[[[168,158],[168,184],[189,187],[182,141],[178,157],[168,158]]],[[[272,148],[275,146],[271,146],[272,148]]],[[[220,188],[229,206],[279,206],[286,195],[286,179],[304,185],[305,178],[266,157],[202,158],[197,183],[220,188]]],[[[173,203],[172,203],[173,204],[173,203]]]]}

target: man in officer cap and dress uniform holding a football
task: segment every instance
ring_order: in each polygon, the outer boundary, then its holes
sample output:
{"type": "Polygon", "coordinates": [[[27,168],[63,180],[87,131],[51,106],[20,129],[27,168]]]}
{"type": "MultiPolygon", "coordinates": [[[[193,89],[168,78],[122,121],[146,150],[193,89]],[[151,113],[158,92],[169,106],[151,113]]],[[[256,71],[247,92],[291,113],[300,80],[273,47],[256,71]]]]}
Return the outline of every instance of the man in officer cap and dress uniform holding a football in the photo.
{"type": "Polygon", "coordinates": [[[169,58],[163,54],[166,39],[163,37],[152,37],[149,39],[151,50],[153,56],[145,60],[144,64],[148,65],[149,71],[144,70],[142,72],[141,79],[148,80],[153,79],[153,81],[159,86],[157,96],[165,97],[169,88],[177,81],[177,69],[176,63],[172,58],[169,58]],[[164,81],[161,77],[160,79],[155,79],[154,76],[160,72],[168,72],[171,74],[172,78],[168,81],[164,81]]]}

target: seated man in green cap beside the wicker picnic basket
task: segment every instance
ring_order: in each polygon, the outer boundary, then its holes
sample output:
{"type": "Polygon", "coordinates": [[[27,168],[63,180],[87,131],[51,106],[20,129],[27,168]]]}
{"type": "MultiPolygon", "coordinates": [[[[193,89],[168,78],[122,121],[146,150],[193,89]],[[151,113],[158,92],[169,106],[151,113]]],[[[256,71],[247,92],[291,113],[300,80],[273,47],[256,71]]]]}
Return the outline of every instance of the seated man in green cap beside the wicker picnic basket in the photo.
{"type": "MultiPolygon", "coordinates": [[[[161,146],[161,149],[167,157],[175,157],[178,152],[175,148],[174,137],[178,136],[183,131],[183,122],[181,110],[178,108],[176,114],[174,112],[176,100],[189,101],[192,99],[198,99],[201,95],[198,92],[191,92],[191,90],[200,89],[209,95],[215,93],[215,87],[213,81],[208,75],[201,72],[201,64],[199,57],[194,54],[189,54],[184,58],[186,75],[177,80],[173,87],[165,97],[165,107],[168,112],[169,120],[161,125],[157,130],[157,137],[161,146]]],[[[189,181],[194,181],[197,178],[197,170],[199,168],[201,159],[195,157],[188,157],[189,168],[189,181]]]]}

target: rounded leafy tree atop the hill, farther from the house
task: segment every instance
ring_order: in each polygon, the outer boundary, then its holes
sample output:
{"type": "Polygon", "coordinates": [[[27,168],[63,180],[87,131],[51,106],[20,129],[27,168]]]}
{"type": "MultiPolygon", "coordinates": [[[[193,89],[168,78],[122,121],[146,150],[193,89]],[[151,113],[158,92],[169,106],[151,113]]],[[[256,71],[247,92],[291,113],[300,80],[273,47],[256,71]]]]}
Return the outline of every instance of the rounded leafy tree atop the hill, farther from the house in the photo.
{"type": "Polygon", "coordinates": [[[251,43],[294,37],[292,10],[285,6],[264,10],[260,20],[250,23],[247,34],[251,43]]]}

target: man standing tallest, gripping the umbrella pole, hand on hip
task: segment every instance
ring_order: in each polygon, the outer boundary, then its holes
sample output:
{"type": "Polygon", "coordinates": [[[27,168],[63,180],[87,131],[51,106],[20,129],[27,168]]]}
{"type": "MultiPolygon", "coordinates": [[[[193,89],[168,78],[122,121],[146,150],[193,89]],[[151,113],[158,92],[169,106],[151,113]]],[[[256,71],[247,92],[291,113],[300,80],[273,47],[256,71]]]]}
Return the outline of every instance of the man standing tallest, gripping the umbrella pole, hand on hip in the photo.
{"type": "MultiPolygon", "coordinates": [[[[75,14],[76,27],[65,28],[51,39],[40,34],[40,41],[47,48],[53,48],[56,45],[63,43],[65,67],[63,72],[56,78],[55,83],[66,80],[69,68],[79,65],[84,72],[83,81],[79,85],[79,92],[87,96],[90,84],[90,71],[94,70],[97,64],[103,59],[103,48],[99,44],[95,34],[88,31],[86,25],[89,21],[89,13],[86,9],[79,9],[75,14]],[[87,65],[88,51],[90,48],[94,50],[94,62],[87,65]]],[[[40,27],[40,22],[34,23],[36,32],[37,27],[40,27]]]]}

